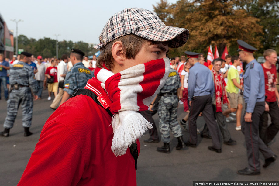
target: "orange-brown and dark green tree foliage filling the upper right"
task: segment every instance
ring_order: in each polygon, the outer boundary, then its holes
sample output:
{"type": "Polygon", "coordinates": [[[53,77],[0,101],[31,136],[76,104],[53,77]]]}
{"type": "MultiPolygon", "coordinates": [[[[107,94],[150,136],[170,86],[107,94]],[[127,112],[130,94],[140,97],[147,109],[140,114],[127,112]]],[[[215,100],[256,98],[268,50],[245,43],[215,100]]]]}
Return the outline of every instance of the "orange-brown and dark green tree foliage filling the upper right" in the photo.
{"type": "Polygon", "coordinates": [[[169,4],[167,0],[160,0],[153,8],[166,25],[189,29],[187,43],[170,49],[170,56],[182,55],[186,50],[207,53],[209,45],[217,45],[220,55],[227,46],[229,53],[235,55],[238,39],[262,50],[277,46],[276,2],[278,0],[179,0],[169,4]]]}

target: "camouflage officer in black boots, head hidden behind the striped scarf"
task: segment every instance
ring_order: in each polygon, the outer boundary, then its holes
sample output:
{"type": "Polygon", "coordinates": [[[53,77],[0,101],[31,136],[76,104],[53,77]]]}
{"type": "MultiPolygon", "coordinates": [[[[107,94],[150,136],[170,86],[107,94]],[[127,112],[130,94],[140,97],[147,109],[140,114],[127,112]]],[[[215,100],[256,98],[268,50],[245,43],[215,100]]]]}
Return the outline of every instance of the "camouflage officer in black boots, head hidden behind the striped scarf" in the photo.
{"type": "Polygon", "coordinates": [[[179,74],[171,68],[167,82],[160,90],[161,99],[158,106],[158,115],[161,139],[164,142],[164,146],[157,148],[159,152],[170,153],[170,129],[174,137],[178,139],[176,150],[181,150],[185,147],[182,131],[177,121],[177,94],[180,91],[180,87],[179,74]]]}

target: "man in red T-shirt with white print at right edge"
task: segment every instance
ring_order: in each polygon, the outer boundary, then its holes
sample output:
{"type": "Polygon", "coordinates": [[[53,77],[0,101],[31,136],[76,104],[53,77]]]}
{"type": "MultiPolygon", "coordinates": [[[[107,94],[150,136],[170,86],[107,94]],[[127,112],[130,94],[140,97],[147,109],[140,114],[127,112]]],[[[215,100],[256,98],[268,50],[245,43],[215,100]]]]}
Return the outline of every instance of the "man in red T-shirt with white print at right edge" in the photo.
{"type": "Polygon", "coordinates": [[[276,61],[277,52],[273,49],[264,51],[265,62],[262,64],[264,69],[264,84],[265,84],[265,109],[260,119],[260,138],[267,145],[277,134],[279,130],[279,94],[276,87],[277,71],[276,61]],[[271,124],[268,126],[268,117],[270,115],[271,124]]]}

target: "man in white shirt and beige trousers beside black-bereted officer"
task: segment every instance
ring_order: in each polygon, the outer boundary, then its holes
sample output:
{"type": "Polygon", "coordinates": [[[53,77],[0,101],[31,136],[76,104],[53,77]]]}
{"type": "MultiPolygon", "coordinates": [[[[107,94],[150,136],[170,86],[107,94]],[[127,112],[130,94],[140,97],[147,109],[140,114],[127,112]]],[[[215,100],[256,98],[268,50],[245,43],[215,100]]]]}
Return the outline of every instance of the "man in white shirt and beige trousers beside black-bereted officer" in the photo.
{"type": "MultiPolygon", "coordinates": [[[[66,74],[68,72],[67,69],[67,63],[68,63],[68,56],[67,54],[64,54],[61,57],[62,61],[60,61],[60,63],[57,66],[57,80],[58,80],[58,86],[59,84],[62,84],[62,81],[64,82],[64,79],[66,77],[66,74]]],[[[52,109],[56,109],[59,106],[59,103],[61,101],[61,98],[64,94],[64,88],[59,87],[59,93],[57,94],[57,96],[54,98],[53,102],[50,105],[50,108],[52,109]]]]}

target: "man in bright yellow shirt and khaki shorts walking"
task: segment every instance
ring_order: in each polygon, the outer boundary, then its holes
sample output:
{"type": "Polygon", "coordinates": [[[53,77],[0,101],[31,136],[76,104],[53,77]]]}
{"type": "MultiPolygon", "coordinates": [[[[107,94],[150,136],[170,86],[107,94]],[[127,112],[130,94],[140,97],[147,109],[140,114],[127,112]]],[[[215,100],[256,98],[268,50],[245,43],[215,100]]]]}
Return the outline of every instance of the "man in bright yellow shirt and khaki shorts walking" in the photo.
{"type": "Polygon", "coordinates": [[[238,56],[232,57],[233,65],[228,70],[228,82],[226,86],[227,94],[229,97],[230,107],[223,112],[223,115],[227,115],[231,112],[236,112],[236,130],[241,130],[241,111],[243,98],[239,93],[239,89],[242,91],[240,86],[239,72],[236,69],[240,65],[241,61],[238,56]]]}

